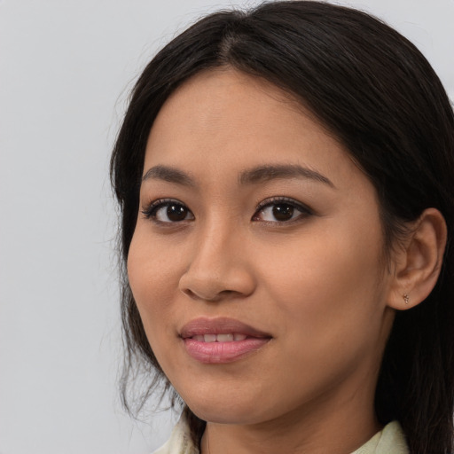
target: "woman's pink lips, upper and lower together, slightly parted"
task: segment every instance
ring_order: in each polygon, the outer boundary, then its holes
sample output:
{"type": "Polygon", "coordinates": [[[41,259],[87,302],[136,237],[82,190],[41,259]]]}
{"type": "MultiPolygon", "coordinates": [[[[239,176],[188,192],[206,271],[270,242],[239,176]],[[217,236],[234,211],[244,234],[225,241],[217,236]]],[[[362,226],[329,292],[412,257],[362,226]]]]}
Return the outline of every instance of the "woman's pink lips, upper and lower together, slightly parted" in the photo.
{"type": "Polygon", "coordinates": [[[200,317],[184,325],[180,337],[189,356],[205,364],[226,364],[253,353],[267,344],[271,336],[232,318],[200,317]],[[204,342],[192,336],[235,333],[247,336],[244,340],[204,342]]]}

